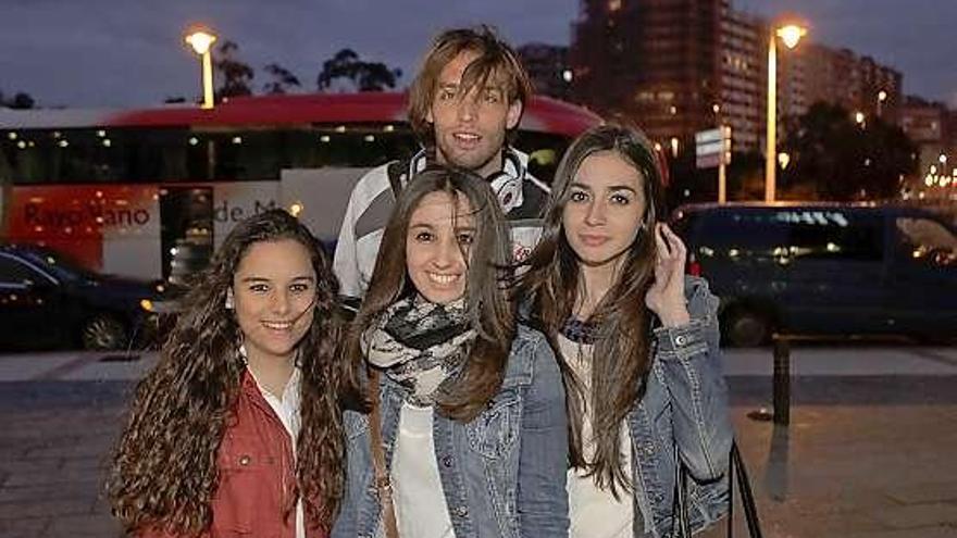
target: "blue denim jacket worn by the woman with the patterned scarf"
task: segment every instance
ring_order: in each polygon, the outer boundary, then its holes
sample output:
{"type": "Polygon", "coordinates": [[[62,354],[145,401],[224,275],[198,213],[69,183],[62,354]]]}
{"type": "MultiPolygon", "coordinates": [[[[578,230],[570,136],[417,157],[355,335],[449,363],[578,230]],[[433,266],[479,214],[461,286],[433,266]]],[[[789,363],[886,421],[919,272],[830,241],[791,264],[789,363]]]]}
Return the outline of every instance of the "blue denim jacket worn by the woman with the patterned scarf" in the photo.
{"type": "MultiPolygon", "coordinates": [[[[380,377],[387,466],[403,388],[380,377]]],[[[372,487],[369,416],[347,412],[346,492],[333,538],[373,538],[380,504],[372,487]]],[[[456,538],[567,537],[568,418],[564,389],[545,336],[519,326],[501,389],[469,423],[436,413],[435,458],[456,538]]]]}

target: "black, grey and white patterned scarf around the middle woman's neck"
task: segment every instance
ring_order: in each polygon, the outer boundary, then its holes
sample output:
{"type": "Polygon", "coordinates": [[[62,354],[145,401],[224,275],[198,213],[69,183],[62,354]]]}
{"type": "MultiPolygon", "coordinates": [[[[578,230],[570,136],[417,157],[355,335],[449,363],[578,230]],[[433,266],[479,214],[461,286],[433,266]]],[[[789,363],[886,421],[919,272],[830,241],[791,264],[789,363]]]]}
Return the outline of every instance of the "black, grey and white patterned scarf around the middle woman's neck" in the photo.
{"type": "Polygon", "coordinates": [[[464,298],[435,304],[415,295],[393,303],[362,335],[361,347],[370,364],[409,389],[410,403],[424,406],[462,371],[474,339],[464,298]]]}

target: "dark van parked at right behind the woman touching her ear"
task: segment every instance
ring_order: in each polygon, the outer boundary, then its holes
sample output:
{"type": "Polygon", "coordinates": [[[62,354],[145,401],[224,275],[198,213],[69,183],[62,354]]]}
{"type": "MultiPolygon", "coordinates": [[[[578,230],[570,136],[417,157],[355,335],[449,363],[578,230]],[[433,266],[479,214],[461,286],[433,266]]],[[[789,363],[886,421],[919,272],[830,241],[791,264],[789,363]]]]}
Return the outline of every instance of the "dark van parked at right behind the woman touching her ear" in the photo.
{"type": "Polygon", "coordinates": [[[957,233],[916,208],[693,204],[674,227],[688,271],[721,298],[726,341],[809,336],[957,337],[957,233]]]}

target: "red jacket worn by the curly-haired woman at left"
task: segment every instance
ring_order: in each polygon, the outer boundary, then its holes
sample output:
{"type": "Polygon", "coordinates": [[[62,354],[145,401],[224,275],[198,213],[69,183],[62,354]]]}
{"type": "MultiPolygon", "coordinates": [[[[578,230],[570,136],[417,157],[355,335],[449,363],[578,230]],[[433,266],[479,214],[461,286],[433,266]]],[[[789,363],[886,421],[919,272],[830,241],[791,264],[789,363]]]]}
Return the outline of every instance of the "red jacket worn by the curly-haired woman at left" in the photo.
{"type": "MultiPolygon", "coordinates": [[[[220,484],[211,503],[213,523],[204,537],[295,538],[295,506],[288,520],[283,518],[296,479],[293,442],[248,371],[234,420],[216,455],[220,484]]],[[[306,535],[327,537],[308,515],[306,535]]],[[[156,530],[139,536],[175,538],[156,530]]]]}

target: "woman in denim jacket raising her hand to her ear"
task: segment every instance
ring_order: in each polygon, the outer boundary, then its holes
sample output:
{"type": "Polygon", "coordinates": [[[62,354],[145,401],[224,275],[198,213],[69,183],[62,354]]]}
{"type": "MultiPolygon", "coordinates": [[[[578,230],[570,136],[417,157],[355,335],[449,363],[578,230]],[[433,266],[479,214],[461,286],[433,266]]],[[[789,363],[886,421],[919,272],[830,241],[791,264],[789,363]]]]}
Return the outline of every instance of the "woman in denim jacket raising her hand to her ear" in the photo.
{"type": "Polygon", "coordinates": [[[728,508],[718,300],[685,276],[685,247],[658,221],[661,190],[641,133],[584,133],[559,164],[518,286],[570,387],[573,538],[672,536],[679,464],[692,528],[728,508]]]}

